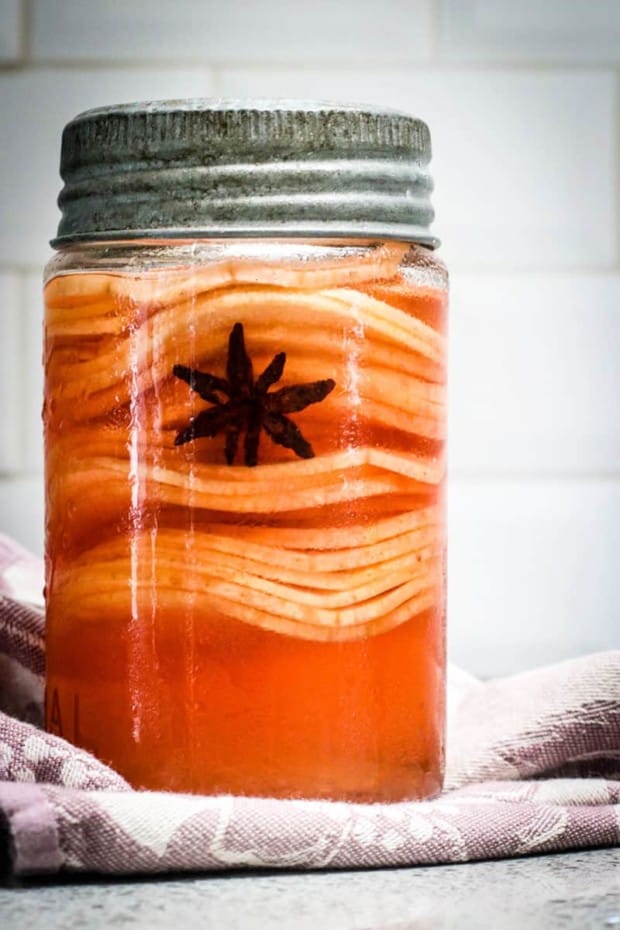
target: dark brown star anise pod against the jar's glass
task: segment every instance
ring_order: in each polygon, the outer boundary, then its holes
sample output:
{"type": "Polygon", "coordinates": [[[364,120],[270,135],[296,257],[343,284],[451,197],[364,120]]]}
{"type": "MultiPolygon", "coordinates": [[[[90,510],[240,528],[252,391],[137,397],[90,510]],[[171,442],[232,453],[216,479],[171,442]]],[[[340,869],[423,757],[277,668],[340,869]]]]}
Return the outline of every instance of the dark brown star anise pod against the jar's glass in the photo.
{"type": "Polygon", "coordinates": [[[252,360],[245,348],[243,324],[235,323],[228,339],[226,378],[186,365],[175,365],[172,373],[189,384],[203,400],[214,405],[202,410],[189,426],[177,434],[175,446],[223,433],[226,437],[224,454],[228,464],[232,465],[239,438],[245,433],[244,462],[254,466],[258,463],[258,445],[264,430],[273,442],[292,449],[299,458],[313,458],[312,446],[287,414],[298,413],[310,404],[324,400],[336,382],[325,378],[270,392],[269,388],[282,377],[285,362],[286,353],[278,352],[254,380],[252,360]]]}

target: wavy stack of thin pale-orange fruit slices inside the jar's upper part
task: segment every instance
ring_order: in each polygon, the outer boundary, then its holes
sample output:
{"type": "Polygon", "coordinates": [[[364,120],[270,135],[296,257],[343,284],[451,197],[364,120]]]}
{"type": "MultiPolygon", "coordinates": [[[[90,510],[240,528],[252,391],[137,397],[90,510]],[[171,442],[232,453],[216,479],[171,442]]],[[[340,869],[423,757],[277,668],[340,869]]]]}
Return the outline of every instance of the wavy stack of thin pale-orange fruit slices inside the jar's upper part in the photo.
{"type": "Polygon", "coordinates": [[[221,615],[330,642],[442,609],[445,466],[431,452],[445,431],[445,338],[434,317],[415,314],[416,299],[442,297],[408,287],[410,303],[400,292],[390,302],[406,249],[329,263],[223,258],[48,284],[49,376],[75,425],[51,444],[50,473],[60,477],[49,506],[82,528],[49,579],[55,610],[94,623],[105,604],[103,622],[156,615],[174,624],[190,605],[196,623],[221,615]],[[274,455],[246,468],[175,448],[202,402],[188,403],[173,366],[223,375],[240,321],[255,372],[282,351],[284,386],[336,381],[305,420],[313,442],[325,437],[315,458],[274,455]],[[330,425],[352,410],[364,444],[335,451],[330,425]],[[412,434],[424,456],[398,450],[411,448],[412,434]]]}

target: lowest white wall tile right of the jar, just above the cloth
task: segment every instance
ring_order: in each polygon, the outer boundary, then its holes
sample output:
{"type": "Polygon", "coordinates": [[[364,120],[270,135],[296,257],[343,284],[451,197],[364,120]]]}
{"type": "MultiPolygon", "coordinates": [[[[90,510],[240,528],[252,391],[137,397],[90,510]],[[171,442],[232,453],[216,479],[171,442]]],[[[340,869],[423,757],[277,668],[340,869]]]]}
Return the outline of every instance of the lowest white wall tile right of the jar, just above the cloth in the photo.
{"type": "Polygon", "coordinates": [[[620,484],[450,484],[452,658],[503,675],[618,646],[620,484]]]}

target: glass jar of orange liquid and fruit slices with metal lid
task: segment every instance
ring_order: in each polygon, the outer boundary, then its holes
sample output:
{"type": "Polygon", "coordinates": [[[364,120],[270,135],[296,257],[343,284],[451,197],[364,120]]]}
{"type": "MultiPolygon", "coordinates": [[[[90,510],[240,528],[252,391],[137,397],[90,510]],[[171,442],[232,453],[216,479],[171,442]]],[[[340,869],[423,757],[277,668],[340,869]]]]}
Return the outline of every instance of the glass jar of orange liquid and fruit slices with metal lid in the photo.
{"type": "Polygon", "coordinates": [[[65,129],[46,723],[134,786],[441,787],[447,275],[426,126],[187,101],[65,129]]]}

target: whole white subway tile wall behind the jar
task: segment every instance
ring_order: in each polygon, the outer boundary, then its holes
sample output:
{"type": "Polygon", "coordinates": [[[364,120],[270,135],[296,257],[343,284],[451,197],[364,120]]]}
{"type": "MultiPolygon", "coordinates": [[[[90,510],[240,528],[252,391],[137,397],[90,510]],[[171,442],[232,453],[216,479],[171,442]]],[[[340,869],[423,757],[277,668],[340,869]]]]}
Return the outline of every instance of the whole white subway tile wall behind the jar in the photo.
{"type": "Polygon", "coordinates": [[[620,3],[0,0],[0,532],[43,547],[41,269],[91,106],[346,99],[433,133],[452,271],[449,643],[503,674],[617,646],[620,3]]]}

